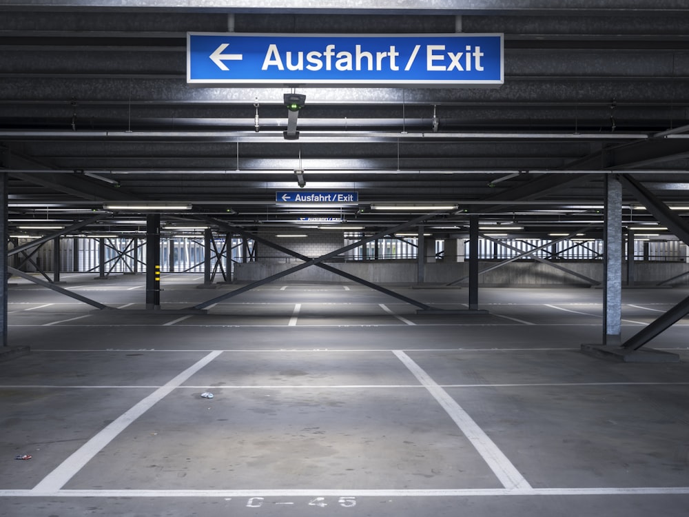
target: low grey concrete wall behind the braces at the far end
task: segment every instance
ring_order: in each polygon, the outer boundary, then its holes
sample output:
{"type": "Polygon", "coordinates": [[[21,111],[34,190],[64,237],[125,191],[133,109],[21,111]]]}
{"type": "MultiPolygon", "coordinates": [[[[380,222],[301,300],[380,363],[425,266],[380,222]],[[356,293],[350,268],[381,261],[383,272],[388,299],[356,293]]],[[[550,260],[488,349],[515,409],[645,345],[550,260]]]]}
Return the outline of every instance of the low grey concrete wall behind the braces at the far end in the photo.
{"type": "MultiPolygon", "coordinates": [[[[492,262],[480,263],[480,270],[494,265],[492,262]]],[[[593,280],[603,280],[603,264],[600,262],[558,263],[593,280]]],[[[255,281],[294,267],[296,263],[247,263],[235,267],[236,281],[255,281]]],[[[331,267],[346,271],[373,283],[417,283],[417,263],[415,261],[378,261],[330,263],[331,267]]],[[[689,272],[686,263],[647,262],[635,263],[637,284],[654,285],[668,278],[689,272]]],[[[424,280],[429,284],[446,284],[457,281],[469,274],[469,263],[431,263],[424,267],[424,280]]],[[[623,267],[623,278],[626,265],[623,267]]],[[[537,262],[513,262],[479,276],[484,286],[540,286],[540,285],[586,285],[581,278],[567,274],[547,264],[537,262]]],[[[285,276],[285,281],[338,282],[351,283],[334,273],[310,266],[285,276]]],[[[466,283],[466,281],[464,282],[466,283]]],[[[675,285],[689,284],[689,274],[678,279],[675,285]]],[[[461,285],[461,284],[460,284],[461,285]]]]}

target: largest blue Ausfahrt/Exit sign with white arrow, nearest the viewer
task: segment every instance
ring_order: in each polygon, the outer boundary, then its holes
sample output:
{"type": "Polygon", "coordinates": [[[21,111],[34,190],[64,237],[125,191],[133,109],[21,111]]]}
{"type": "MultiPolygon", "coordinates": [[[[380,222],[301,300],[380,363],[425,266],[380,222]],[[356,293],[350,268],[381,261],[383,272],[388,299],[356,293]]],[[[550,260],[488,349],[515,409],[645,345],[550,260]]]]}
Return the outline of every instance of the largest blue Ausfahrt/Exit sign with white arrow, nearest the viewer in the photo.
{"type": "Polygon", "coordinates": [[[187,83],[501,85],[502,34],[187,33],[187,83]]]}

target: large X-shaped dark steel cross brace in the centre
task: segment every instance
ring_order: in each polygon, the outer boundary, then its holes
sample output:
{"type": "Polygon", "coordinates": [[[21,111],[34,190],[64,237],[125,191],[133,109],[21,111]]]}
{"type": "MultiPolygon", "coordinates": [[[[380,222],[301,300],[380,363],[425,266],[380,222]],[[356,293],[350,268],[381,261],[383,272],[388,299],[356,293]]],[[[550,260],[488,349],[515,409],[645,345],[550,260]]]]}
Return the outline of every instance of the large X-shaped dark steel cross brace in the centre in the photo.
{"type": "Polygon", "coordinates": [[[398,294],[398,293],[393,292],[391,290],[387,290],[384,287],[380,287],[380,285],[376,285],[374,283],[366,281],[363,278],[359,278],[358,276],[354,276],[354,275],[349,274],[347,272],[340,271],[340,270],[336,269],[335,267],[331,267],[327,264],[323,264],[322,261],[330,259],[333,256],[338,256],[339,254],[342,254],[342,253],[347,252],[349,250],[353,250],[355,247],[358,247],[364,243],[367,243],[370,241],[375,241],[376,239],[380,239],[382,236],[385,236],[387,234],[399,232],[400,230],[404,230],[404,228],[415,225],[416,223],[420,223],[421,221],[425,221],[426,219],[430,219],[431,217],[438,215],[438,214],[441,214],[441,213],[443,213],[443,212],[436,211],[436,212],[431,212],[430,214],[424,214],[424,215],[419,216],[415,219],[412,219],[411,221],[408,221],[407,223],[402,223],[401,225],[397,225],[395,227],[388,228],[387,230],[382,230],[381,232],[378,232],[378,233],[373,234],[371,236],[365,237],[364,239],[361,239],[360,241],[357,241],[356,243],[349,244],[345,247],[339,248],[338,250],[334,250],[333,252],[329,252],[325,255],[321,255],[316,259],[310,259],[307,256],[304,256],[302,254],[299,254],[297,252],[289,250],[289,249],[282,247],[276,243],[271,243],[270,241],[267,241],[267,240],[265,240],[261,237],[258,237],[258,236],[254,236],[253,234],[246,232],[245,230],[242,230],[241,228],[235,227],[235,226],[230,225],[228,223],[224,223],[223,221],[218,221],[217,219],[213,219],[212,217],[197,216],[198,219],[217,224],[218,226],[223,227],[223,229],[225,229],[225,230],[237,232],[238,234],[245,237],[246,239],[254,239],[254,241],[256,241],[256,242],[263,243],[269,247],[274,248],[275,250],[287,253],[287,254],[294,256],[297,259],[300,259],[300,260],[305,261],[305,262],[302,264],[296,265],[294,267],[291,267],[291,268],[289,268],[289,270],[285,270],[285,271],[273,274],[271,276],[268,276],[267,278],[263,278],[261,280],[252,282],[248,285],[245,285],[244,287],[240,287],[237,290],[234,290],[234,291],[229,292],[227,294],[223,294],[222,296],[218,296],[216,298],[213,298],[212,300],[205,301],[203,303],[199,303],[198,305],[194,305],[194,307],[192,307],[192,308],[203,309],[205,307],[208,307],[209,305],[213,305],[214,303],[218,303],[218,301],[226,300],[227,298],[232,298],[232,296],[237,296],[238,294],[242,294],[243,292],[247,292],[249,290],[252,290],[252,289],[254,289],[254,287],[259,287],[260,285],[264,285],[266,283],[277,280],[278,278],[282,278],[282,276],[287,276],[288,274],[291,274],[291,273],[297,272],[299,270],[305,269],[305,267],[309,267],[310,265],[317,265],[318,267],[322,267],[323,269],[325,269],[329,272],[333,272],[333,273],[338,274],[340,276],[344,276],[345,278],[348,278],[351,281],[355,281],[355,282],[361,283],[363,285],[366,285],[367,287],[371,287],[371,289],[383,292],[384,294],[388,294],[389,296],[393,296],[393,298],[398,298],[398,300],[402,300],[402,301],[405,301],[407,303],[410,303],[411,305],[415,305],[416,307],[419,307],[420,309],[431,310],[432,307],[430,307],[429,305],[426,305],[425,303],[421,303],[420,301],[413,300],[412,298],[407,298],[407,296],[403,296],[402,294],[398,294]]]}

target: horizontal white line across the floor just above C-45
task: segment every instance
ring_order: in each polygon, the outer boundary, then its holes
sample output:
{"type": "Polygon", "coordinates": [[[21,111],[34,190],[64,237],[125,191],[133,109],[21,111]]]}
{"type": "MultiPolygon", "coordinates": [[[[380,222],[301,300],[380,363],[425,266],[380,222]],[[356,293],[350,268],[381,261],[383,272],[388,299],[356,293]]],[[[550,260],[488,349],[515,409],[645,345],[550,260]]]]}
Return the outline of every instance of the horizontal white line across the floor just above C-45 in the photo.
{"type": "Polygon", "coordinates": [[[467,488],[467,489],[243,489],[51,490],[0,489],[0,497],[491,497],[689,495],[689,487],[467,488]]]}

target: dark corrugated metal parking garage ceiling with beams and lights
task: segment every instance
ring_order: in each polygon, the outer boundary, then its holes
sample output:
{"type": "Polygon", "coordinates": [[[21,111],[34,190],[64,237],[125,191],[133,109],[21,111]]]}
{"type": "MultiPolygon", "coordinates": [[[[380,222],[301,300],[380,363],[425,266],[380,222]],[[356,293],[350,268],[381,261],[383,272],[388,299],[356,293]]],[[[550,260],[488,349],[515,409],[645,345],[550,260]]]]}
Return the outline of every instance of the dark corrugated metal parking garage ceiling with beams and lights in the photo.
{"type": "MultiPolygon", "coordinates": [[[[628,173],[669,205],[689,187],[689,6],[682,0],[6,0],[0,6],[0,170],[10,230],[80,221],[113,201],[183,202],[163,215],[379,231],[449,203],[540,236],[601,221],[603,174],[628,173]],[[457,3],[465,3],[457,8],[457,3]],[[614,4],[614,5],[611,5],[614,4]],[[198,87],[187,32],[504,34],[497,88],[198,87]],[[283,94],[305,94],[287,140],[283,94]],[[276,192],[347,191],[358,203],[289,205],[276,192]],[[86,215],[85,215],[86,214],[86,215]]],[[[624,194],[624,221],[650,223],[624,194]]],[[[688,212],[689,213],[689,212],[688,212]]],[[[435,230],[433,229],[435,225],[435,230]]],[[[80,231],[126,232],[114,211],[80,231]]]]}

